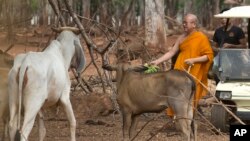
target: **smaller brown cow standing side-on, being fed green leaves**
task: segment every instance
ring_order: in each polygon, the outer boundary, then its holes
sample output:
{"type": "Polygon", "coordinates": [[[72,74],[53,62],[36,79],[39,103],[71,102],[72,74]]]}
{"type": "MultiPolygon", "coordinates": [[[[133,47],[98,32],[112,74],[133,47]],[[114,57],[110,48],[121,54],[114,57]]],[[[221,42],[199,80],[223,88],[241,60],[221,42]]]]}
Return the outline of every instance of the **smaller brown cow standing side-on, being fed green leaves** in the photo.
{"type": "Polygon", "coordinates": [[[192,77],[179,70],[144,74],[135,68],[119,64],[104,65],[106,70],[116,71],[117,102],[123,117],[123,138],[131,139],[139,115],[160,112],[172,107],[184,140],[195,140],[192,100],[195,82],[192,77]]]}

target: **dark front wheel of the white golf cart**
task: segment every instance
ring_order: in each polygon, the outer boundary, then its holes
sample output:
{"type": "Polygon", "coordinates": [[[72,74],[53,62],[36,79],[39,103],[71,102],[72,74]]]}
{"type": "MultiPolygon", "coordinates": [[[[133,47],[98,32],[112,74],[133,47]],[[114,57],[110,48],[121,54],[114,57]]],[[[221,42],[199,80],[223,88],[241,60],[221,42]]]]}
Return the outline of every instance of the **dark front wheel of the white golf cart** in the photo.
{"type": "Polygon", "coordinates": [[[221,105],[213,105],[211,110],[211,123],[220,131],[229,131],[229,115],[221,105]]]}

